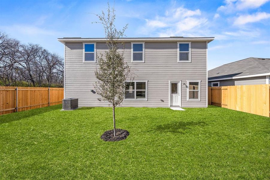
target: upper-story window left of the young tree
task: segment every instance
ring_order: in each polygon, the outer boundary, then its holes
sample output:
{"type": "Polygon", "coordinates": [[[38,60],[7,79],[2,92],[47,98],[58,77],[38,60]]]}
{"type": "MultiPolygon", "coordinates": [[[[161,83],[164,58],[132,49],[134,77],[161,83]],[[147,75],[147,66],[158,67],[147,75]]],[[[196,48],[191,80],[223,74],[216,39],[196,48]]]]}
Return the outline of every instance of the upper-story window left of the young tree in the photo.
{"type": "Polygon", "coordinates": [[[96,43],[83,43],[83,62],[96,62],[96,43]]]}

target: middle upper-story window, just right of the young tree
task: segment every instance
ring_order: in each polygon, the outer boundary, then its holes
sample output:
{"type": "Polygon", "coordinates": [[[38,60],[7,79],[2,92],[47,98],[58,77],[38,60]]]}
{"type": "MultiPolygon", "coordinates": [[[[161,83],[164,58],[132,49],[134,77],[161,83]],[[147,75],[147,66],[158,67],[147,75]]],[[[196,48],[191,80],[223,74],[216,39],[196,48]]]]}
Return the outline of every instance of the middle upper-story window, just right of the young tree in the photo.
{"type": "Polygon", "coordinates": [[[131,43],[131,62],[144,62],[144,42],[131,43]]]}

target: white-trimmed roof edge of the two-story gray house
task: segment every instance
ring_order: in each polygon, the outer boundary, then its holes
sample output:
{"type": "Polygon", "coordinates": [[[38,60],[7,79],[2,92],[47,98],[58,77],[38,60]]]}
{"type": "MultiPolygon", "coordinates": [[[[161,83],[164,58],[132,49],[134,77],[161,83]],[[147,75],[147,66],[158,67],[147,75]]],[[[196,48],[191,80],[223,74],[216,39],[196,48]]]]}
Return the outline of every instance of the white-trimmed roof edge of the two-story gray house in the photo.
{"type": "MultiPolygon", "coordinates": [[[[61,43],[65,42],[105,42],[107,38],[58,38],[61,43]]],[[[213,37],[197,37],[197,38],[186,38],[186,37],[169,37],[169,38],[120,38],[119,41],[125,42],[140,42],[140,41],[207,41],[208,43],[213,41],[213,37]]]]}

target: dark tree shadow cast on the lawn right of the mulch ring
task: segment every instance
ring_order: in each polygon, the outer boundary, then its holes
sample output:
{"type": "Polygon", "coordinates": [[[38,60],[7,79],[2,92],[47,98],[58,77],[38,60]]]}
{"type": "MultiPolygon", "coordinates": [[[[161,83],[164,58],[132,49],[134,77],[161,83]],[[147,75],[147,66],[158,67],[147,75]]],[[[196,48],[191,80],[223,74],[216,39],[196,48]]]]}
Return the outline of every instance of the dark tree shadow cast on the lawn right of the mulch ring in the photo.
{"type": "Polygon", "coordinates": [[[198,122],[172,122],[170,124],[158,125],[154,129],[154,131],[159,132],[171,132],[177,134],[184,134],[184,131],[191,129],[191,127],[195,126],[206,126],[207,123],[203,121],[198,122]]]}

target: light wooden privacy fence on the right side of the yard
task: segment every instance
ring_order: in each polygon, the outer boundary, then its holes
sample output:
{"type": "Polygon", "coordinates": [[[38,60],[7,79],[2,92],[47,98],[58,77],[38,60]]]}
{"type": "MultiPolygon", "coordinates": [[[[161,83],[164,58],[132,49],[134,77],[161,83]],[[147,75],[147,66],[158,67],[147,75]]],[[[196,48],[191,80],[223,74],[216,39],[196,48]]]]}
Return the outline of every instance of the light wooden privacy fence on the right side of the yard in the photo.
{"type": "Polygon", "coordinates": [[[208,104],[269,117],[270,85],[208,87],[208,104]]]}

